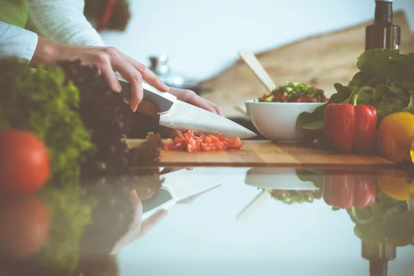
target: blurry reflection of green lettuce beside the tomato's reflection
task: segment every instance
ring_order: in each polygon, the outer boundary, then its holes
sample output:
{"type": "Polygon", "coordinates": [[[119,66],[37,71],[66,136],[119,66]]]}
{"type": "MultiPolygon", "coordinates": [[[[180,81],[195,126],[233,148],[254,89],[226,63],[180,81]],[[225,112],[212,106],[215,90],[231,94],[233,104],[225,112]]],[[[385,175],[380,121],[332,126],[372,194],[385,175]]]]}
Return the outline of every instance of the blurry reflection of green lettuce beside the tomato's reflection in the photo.
{"type": "Polygon", "coordinates": [[[77,184],[41,191],[40,197],[48,204],[52,224],[48,240],[36,257],[39,266],[67,272],[77,267],[79,242],[96,205],[94,199],[84,199],[82,194],[83,189],[77,184]]]}

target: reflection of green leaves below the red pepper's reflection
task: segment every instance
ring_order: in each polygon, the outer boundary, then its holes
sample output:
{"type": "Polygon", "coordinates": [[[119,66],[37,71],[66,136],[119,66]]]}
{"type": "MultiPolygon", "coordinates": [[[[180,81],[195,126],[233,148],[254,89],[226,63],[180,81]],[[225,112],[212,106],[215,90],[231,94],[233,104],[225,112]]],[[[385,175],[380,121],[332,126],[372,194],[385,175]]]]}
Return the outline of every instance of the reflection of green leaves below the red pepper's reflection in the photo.
{"type": "MultiPolygon", "coordinates": [[[[347,210],[352,216],[352,210],[347,210]]],[[[391,199],[377,191],[372,206],[355,209],[360,223],[355,224],[355,235],[369,244],[406,246],[413,243],[414,213],[406,201],[391,199]]]]}

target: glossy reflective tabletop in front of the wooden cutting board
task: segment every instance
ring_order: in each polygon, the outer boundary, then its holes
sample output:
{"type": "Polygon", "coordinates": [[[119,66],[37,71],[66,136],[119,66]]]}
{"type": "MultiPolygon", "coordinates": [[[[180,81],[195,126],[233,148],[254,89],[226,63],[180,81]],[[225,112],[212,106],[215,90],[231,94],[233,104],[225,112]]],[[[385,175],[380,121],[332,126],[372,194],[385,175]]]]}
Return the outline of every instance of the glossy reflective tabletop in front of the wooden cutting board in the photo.
{"type": "Polygon", "coordinates": [[[2,198],[0,275],[414,273],[407,171],[155,171],[2,198]]]}

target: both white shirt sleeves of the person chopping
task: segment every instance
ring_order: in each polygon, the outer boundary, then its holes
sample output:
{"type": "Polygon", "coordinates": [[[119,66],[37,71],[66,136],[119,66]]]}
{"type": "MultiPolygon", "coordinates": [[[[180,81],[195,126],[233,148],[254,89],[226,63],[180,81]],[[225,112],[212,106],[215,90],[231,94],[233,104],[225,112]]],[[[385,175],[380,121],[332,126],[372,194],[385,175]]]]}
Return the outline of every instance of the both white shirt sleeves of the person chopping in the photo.
{"type": "Polygon", "coordinates": [[[30,61],[37,36],[81,46],[105,46],[99,33],[83,15],[84,0],[28,0],[25,30],[0,21],[0,58],[19,57],[30,61]]]}

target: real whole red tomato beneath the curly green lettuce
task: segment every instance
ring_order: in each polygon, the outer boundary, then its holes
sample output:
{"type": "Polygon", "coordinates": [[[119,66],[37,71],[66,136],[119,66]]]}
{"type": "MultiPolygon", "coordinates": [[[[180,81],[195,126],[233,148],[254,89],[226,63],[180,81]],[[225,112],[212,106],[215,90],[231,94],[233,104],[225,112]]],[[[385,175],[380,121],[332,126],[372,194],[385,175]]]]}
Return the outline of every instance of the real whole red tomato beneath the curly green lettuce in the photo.
{"type": "Polygon", "coordinates": [[[32,193],[50,175],[46,146],[31,132],[0,131],[0,194],[32,193]]]}

